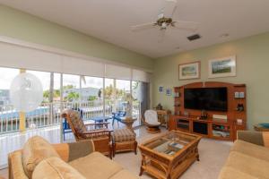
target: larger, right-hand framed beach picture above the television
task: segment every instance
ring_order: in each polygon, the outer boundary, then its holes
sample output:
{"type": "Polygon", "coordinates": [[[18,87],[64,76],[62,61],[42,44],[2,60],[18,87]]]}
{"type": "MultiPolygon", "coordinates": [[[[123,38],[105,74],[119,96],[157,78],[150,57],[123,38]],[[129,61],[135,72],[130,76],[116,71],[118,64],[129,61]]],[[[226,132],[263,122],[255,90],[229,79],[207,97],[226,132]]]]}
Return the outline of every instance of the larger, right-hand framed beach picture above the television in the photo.
{"type": "Polygon", "coordinates": [[[213,59],[208,61],[208,77],[219,78],[236,76],[236,56],[227,56],[219,59],[213,59]]]}

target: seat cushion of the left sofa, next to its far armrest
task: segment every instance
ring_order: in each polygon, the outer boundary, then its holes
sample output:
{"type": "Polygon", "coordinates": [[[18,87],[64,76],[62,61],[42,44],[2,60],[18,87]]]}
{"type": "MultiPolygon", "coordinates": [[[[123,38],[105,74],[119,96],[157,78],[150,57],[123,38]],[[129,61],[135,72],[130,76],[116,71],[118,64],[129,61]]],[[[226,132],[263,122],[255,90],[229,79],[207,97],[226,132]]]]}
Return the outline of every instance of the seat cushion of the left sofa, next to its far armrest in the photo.
{"type": "Polygon", "coordinates": [[[107,179],[123,169],[122,166],[119,166],[116,162],[99,152],[93,152],[84,158],[75,159],[69,162],[69,164],[86,178],[91,179],[107,179]]]}

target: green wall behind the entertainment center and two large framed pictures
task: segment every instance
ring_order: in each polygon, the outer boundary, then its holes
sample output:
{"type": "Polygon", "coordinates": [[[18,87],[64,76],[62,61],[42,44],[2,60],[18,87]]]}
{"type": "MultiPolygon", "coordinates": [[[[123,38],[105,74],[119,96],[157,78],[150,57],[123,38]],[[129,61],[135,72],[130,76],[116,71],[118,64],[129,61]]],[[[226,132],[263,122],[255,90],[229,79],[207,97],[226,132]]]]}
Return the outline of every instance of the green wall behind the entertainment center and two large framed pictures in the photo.
{"type": "Polygon", "coordinates": [[[269,123],[269,33],[159,58],[153,79],[153,106],[161,103],[172,110],[173,98],[160,94],[158,86],[173,88],[195,81],[246,83],[248,128],[269,123]],[[208,79],[208,60],[229,55],[237,55],[237,76],[208,79]],[[192,61],[201,61],[201,79],[178,81],[178,64],[192,61]]]}

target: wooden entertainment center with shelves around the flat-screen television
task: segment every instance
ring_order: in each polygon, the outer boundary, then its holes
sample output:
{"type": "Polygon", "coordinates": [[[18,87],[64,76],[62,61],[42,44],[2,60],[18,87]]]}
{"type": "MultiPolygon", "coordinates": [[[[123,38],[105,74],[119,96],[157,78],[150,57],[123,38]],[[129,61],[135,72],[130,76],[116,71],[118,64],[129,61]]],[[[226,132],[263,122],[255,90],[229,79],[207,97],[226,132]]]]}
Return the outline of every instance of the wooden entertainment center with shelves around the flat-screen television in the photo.
{"type": "Polygon", "coordinates": [[[247,103],[246,85],[227,82],[195,82],[174,88],[174,115],[169,118],[169,130],[179,130],[217,140],[234,141],[238,130],[246,130],[247,103]],[[206,111],[187,109],[184,104],[185,89],[227,88],[227,111],[206,111]]]}

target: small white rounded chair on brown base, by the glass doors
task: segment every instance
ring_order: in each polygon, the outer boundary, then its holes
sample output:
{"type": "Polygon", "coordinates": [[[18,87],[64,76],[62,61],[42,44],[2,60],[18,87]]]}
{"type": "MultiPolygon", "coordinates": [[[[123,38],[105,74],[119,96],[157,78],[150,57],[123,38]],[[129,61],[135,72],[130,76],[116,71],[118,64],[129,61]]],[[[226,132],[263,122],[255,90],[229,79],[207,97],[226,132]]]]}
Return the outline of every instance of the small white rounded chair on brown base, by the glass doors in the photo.
{"type": "Polygon", "coordinates": [[[154,110],[146,110],[146,112],[144,113],[143,124],[147,126],[147,131],[149,133],[161,132],[161,123],[158,121],[157,112],[154,110]]]}

